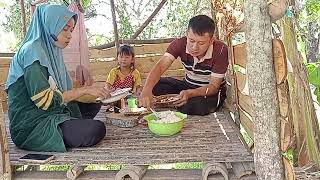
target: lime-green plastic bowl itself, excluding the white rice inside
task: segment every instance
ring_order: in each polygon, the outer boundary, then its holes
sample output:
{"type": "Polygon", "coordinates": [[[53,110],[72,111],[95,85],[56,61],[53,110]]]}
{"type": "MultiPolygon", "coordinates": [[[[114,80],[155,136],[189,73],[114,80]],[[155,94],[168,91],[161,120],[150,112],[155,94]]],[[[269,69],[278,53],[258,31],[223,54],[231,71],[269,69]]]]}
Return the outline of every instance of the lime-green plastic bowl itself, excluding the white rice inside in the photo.
{"type": "Polygon", "coordinates": [[[143,119],[148,122],[148,127],[152,133],[158,136],[172,136],[182,129],[184,120],[187,118],[186,114],[180,112],[175,112],[175,115],[178,116],[181,121],[174,123],[155,123],[153,120],[156,120],[156,116],[153,113],[144,116],[143,119]]]}

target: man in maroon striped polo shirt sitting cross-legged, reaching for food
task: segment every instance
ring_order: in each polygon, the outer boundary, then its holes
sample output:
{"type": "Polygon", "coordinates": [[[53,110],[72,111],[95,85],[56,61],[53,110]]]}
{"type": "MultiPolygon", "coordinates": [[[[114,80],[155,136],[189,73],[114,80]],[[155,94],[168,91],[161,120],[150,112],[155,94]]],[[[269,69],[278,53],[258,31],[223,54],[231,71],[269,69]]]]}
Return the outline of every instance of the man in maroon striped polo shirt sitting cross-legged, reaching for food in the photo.
{"type": "Polygon", "coordinates": [[[228,47],[214,37],[215,23],[205,15],[190,19],[187,36],[175,39],[151,70],[139,104],[150,107],[153,95],[179,94],[178,110],[206,115],[226,98],[224,76],[228,67],[228,47]],[[183,80],[161,75],[178,58],[185,70],[183,80]]]}

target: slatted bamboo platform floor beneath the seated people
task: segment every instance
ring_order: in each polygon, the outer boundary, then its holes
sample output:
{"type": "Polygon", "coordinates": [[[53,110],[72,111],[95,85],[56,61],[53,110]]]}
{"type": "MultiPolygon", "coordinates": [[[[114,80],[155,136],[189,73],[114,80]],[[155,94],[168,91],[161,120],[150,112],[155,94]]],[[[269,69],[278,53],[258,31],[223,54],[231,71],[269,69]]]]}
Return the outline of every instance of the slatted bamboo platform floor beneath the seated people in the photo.
{"type": "MultiPolygon", "coordinates": [[[[157,137],[143,125],[133,128],[112,126],[107,123],[105,113],[102,109],[96,117],[106,122],[107,135],[102,142],[90,148],[69,149],[66,153],[53,152],[56,158],[49,164],[253,161],[251,152],[239,137],[239,130],[223,112],[189,116],[182,131],[172,137],[157,137]]],[[[18,158],[30,152],[18,149],[10,137],[9,146],[12,165],[26,164],[18,158]]]]}

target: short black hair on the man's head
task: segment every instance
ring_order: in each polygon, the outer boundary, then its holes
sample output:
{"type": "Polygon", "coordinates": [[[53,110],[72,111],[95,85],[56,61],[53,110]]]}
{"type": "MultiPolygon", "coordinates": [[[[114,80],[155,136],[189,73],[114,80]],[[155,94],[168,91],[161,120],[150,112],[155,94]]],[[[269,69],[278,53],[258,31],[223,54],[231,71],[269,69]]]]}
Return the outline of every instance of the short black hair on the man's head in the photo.
{"type": "Polygon", "coordinates": [[[209,33],[210,37],[213,36],[216,25],[214,21],[206,15],[198,15],[189,20],[188,30],[192,31],[200,36],[205,33],[209,33]]]}

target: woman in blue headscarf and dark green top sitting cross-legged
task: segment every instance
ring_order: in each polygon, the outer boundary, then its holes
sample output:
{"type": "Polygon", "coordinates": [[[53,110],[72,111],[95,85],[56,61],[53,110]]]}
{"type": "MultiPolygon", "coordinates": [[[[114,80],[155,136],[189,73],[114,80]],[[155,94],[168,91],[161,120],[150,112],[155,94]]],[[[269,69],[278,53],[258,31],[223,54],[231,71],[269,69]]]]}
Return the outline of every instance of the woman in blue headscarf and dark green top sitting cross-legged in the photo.
{"type": "Polygon", "coordinates": [[[84,118],[88,112],[81,112],[84,108],[80,110],[75,100],[83,95],[106,98],[110,93],[93,86],[73,89],[63,61],[62,49],[70,42],[76,20],[64,6],[38,6],[11,62],[8,114],[11,138],[19,148],[64,152],[68,147],[93,146],[105,137],[104,123],[84,118]]]}

